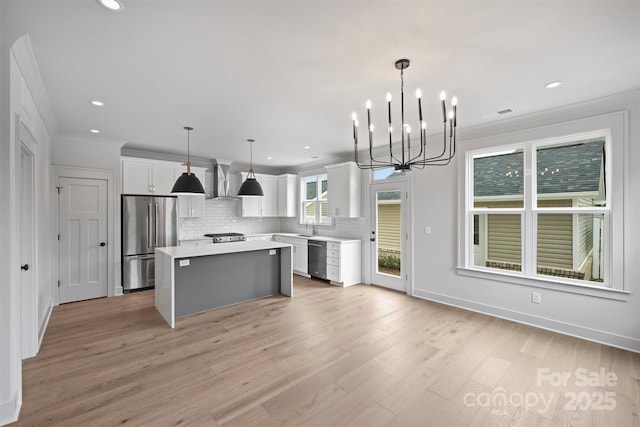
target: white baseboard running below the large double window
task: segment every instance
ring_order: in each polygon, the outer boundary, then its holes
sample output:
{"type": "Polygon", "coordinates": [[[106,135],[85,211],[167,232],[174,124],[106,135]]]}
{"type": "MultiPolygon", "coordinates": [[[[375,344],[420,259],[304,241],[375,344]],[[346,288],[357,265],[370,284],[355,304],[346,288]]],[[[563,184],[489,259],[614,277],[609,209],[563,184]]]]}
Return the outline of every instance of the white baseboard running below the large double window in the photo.
{"type": "Polygon", "coordinates": [[[532,316],[530,314],[520,313],[513,310],[507,310],[486,304],[480,304],[475,301],[465,300],[462,298],[450,297],[448,295],[436,292],[427,292],[416,289],[414,295],[418,298],[427,299],[429,301],[439,302],[451,305],[465,310],[475,311],[489,316],[499,317],[501,319],[512,320],[514,322],[523,323],[525,325],[535,326],[537,328],[546,329],[560,334],[569,335],[576,338],[582,338],[588,341],[600,344],[618,347],[623,350],[640,353],[640,340],[625,337],[622,335],[612,334],[610,332],[600,331],[597,329],[586,328],[580,325],[560,322],[540,316],[532,316]]]}

